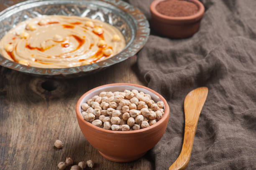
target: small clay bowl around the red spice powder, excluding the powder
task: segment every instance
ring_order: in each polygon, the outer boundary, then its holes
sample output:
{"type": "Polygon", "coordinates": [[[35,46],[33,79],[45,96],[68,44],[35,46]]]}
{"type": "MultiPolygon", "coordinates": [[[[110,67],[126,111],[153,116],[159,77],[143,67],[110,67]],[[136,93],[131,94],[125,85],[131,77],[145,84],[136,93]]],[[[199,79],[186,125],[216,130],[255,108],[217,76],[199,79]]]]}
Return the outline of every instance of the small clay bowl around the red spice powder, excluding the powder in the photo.
{"type": "Polygon", "coordinates": [[[198,0],[187,0],[198,6],[198,11],[194,15],[185,17],[170,17],[159,13],[156,10],[157,4],[164,0],[155,0],[151,3],[151,27],[157,33],[169,38],[191,37],[200,28],[200,21],[205,12],[205,7],[198,0]]]}

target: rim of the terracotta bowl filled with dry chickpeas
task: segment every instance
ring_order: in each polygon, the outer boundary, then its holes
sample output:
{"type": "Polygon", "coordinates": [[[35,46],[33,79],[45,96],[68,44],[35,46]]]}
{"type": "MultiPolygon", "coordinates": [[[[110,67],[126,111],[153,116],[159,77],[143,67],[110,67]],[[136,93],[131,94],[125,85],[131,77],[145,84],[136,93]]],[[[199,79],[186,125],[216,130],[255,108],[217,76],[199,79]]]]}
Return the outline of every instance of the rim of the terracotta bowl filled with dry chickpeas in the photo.
{"type": "Polygon", "coordinates": [[[115,83],[115,84],[105,84],[105,85],[102,85],[102,86],[95,87],[94,89],[91,89],[91,90],[87,91],[85,94],[83,94],[80,97],[80,99],[77,101],[76,114],[77,114],[77,119],[80,119],[83,123],[87,124],[87,126],[90,126],[90,127],[94,128],[95,130],[99,130],[99,131],[102,131],[102,132],[105,132],[105,133],[113,133],[113,134],[131,134],[131,133],[141,133],[141,132],[148,131],[148,130],[153,129],[154,127],[158,126],[159,124],[163,123],[164,120],[167,119],[168,115],[170,114],[170,108],[169,108],[169,105],[168,105],[167,101],[164,99],[163,96],[161,96],[161,94],[157,93],[156,91],[154,91],[152,89],[149,89],[148,87],[141,86],[141,85],[138,85],[138,84],[130,84],[130,83],[115,83]],[[146,89],[148,91],[151,91],[151,93],[154,93],[156,96],[158,96],[164,102],[165,109],[164,109],[163,117],[158,122],[156,122],[155,124],[153,124],[149,127],[146,127],[146,128],[143,128],[143,129],[138,129],[138,130],[132,130],[132,131],[113,131],[113,130],[103,129],[101,127],[97,127],[97,126],[91,124],[90,122],[87,122],[86,120],[84,120],[84,118],[82,117],[82,114],[80,112],[80,106],[81,106],[80,103],[82,102],[82,99],[84,99],[85,96],[90,94],[92,91],[95,91],[95,90],[100,89],[100,88],[105,87],[105,86],[120,86],[120,85],[135,86],[135,87],[139,87],[139,88],[143,88],[143,89],[146,89]]]}

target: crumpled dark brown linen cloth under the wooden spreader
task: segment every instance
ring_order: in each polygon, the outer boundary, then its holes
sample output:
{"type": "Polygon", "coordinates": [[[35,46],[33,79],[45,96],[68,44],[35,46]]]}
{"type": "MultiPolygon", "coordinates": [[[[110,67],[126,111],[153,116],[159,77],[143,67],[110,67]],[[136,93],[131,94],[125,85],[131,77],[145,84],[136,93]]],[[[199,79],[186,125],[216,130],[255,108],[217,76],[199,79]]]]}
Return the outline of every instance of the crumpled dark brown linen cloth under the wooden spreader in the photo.
{"type": "MultiPolygon", "coordinates": [[[[152,0],[128,2],[150,20],[152,0]]],[[[156,170],[172,165],[182,148],[184,98],[206,86],[187,169],[256,169],[256,0],[202,3],[206,11],[194,36],[174,40],[151,30],[138,53],[139,74],[170,107],[166,132],[148,155],[156,170]]]]}

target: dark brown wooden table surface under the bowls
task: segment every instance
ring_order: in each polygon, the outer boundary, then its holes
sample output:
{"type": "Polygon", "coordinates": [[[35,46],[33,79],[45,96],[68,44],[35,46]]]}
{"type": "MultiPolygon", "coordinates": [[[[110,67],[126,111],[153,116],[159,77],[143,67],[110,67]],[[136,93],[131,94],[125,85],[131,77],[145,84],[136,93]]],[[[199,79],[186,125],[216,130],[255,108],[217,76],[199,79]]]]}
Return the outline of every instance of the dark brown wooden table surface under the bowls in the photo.
{"type": "MultiPolygon", "coordinates": [[[[0,11],[20,1],[0,1],[0,11]]],[[[57,170],[66,157],[75,164],[92,159],[94,170],[154,169],[148,154],[128,163],[106,160],[83,136],[75,113],[79,97],[97,86],[146,85],[136,72],[136,56],[78,79],[38,78],[0,66],[0,170],[57,170]],[[64,147],[56,149],[55,140],[64,147]]]]}

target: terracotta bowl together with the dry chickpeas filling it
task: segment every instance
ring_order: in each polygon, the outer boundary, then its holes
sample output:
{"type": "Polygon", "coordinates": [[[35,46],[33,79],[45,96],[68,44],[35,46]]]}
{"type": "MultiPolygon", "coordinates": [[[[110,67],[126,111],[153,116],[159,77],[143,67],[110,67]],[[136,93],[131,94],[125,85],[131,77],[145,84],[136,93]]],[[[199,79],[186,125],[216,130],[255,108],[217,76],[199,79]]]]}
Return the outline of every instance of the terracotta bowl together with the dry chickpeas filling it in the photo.
{"type": "Polygon", "coordinates": [[[137,84],[107,84],[77,101],[86,140],[114,162],[130,162],[154,147],[167,127],[169,106],[156,91],[137,84]]]}

